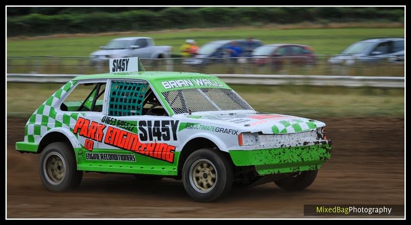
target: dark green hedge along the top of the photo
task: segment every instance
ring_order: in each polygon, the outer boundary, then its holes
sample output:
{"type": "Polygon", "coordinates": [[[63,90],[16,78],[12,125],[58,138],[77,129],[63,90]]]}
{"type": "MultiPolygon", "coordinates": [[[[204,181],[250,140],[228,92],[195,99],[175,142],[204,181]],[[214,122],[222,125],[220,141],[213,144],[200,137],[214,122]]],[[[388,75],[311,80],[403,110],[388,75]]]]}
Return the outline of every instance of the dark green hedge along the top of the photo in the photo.
{"type": "Polygon", "coordinates": [[[8,36],[147,31],[264,23],[404,20],[404,10],[401,8],[377,7],[22,7],[20,10],[9,7],[7,10],[8,36]]]}

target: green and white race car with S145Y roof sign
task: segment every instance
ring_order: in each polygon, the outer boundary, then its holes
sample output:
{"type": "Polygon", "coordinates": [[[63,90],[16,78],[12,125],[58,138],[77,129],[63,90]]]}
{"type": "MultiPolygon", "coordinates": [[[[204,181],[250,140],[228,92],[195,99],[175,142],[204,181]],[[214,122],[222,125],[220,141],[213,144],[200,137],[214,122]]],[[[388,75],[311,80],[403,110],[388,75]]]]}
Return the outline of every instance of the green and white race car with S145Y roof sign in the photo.
{"type": "Polygon", "coordinates": [[[330,158],[323,122],[256,112],[215,76],[147,72],[136,57],[109,65],[52,94],[16,142],[41,154],[51,192],[77,188],[84,171],[122,173],[182,180],[191,198],[208,202],[233,185],[305,189],[330,158]]]}

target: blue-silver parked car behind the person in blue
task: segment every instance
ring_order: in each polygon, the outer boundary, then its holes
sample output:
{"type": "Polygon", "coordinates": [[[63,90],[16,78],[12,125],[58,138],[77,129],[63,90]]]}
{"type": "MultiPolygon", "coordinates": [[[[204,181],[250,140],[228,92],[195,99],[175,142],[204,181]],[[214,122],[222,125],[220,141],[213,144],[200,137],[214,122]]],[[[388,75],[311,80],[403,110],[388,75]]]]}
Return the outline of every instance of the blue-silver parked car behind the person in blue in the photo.
{"type": "MultiPolygon", "coordinates": [[[[210,59],[202,58],[223,58],[229,57],[229,53],[225,49],[230,45],[231,42],[235,41],[239,47],[242,49],[242,54],[240,57],[251,57],[252,51],[262,46],[263,43],[260,40],[249,39],[249,40],[216,40],[210,42],[206,45],[201,46],[197,51],[197,55],[193,58],[188,58],[184,61],[184,64],[207,64],[210,59]]],[[[218,62],[218,60],[213,60],[213,62],[218,62]]]]}

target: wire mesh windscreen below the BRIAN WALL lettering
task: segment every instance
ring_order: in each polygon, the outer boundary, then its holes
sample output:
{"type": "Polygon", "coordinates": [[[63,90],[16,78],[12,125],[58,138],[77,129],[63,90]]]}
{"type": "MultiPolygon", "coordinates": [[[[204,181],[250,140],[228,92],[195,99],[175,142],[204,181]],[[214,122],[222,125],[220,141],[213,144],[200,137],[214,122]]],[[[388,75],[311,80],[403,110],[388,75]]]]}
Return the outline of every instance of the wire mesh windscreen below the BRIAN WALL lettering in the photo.
{"type": "Polygon", "coordinates": [[[205,111],[253,110],[237,93],[222,88],[183,89],[163,92],[175,114],[205,111]]]}

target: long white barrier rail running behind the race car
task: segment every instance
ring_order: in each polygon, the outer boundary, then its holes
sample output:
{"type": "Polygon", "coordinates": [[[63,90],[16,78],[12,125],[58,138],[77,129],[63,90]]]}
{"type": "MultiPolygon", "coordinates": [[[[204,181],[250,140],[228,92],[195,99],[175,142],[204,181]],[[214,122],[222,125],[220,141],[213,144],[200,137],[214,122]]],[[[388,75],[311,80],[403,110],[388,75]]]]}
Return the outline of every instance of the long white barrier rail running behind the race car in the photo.
{"type": "MultiPolygon", "coordinates": [[[[16,74],[8,73],[8,82],[66,83],[83,74],[16,74]]],[[[307,85],[339,87],[404,88],[404,77],[394,76],[319,76],[319,75],[262,75],[213,74],[227,84],[238,85],[307,85]]]]}

